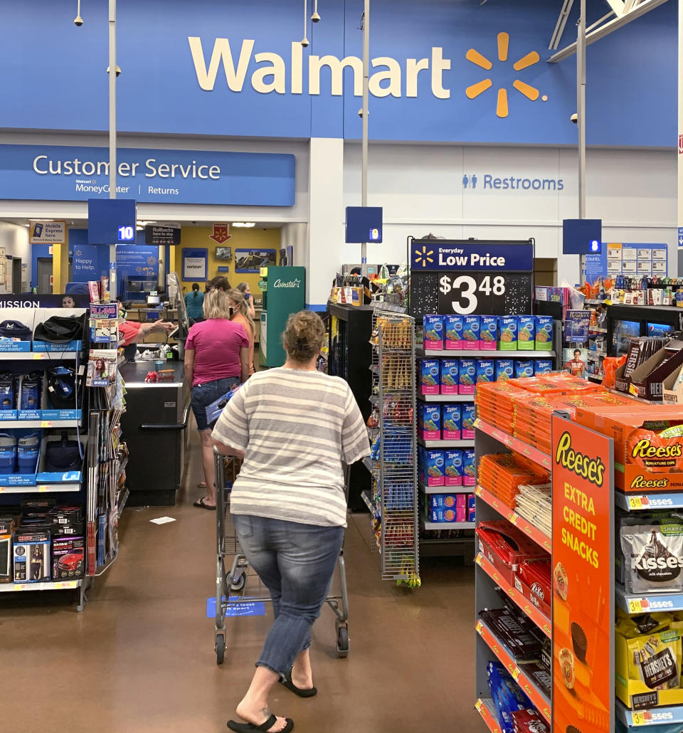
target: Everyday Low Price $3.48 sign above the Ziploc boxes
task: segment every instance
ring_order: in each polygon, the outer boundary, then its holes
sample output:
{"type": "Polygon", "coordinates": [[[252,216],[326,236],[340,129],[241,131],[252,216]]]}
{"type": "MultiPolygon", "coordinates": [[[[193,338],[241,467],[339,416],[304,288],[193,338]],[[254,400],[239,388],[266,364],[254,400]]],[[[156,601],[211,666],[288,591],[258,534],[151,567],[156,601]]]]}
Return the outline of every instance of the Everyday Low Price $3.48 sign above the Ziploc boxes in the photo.
{"type": "MultiPolygon", "coordinates": [[[[433,293],[438,273],[440,314],[531,313],[533,240],[412,240],[410,247],[411,298],[427,283],[433,293]]],[[[427,300],[433,308],[433,295],[427,300]]]]}

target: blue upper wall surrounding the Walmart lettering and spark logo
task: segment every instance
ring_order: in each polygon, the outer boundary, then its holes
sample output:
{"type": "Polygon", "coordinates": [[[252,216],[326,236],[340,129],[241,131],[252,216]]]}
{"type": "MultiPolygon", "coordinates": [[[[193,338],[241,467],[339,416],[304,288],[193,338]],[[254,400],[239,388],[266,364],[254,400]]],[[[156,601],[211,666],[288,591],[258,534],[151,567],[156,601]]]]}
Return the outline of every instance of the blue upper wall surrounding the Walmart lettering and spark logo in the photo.
{"type": "MultiPolygon", "coordinates": [[[[588,4],[589,22],[607,7],[603,0],[588,4]]],[[[371,137],[576,144],[576,129],[569,123],[576,108],[575,59],[547,64],[560,5],[547,0],[488,0],[483,5],[476,0],[373,0],[371,56],[396,59],[401,80],[400,97],[371,97],[371,137]],[[498,60],[499,32],[509,33],[504,62],[498,60]],[[452,61],[441,79],[448,99],[432,93],[433,48],[443,48],[452,61]],[[470,48],[490,59],[492,69],[468,61],[470,48]],[[539,62],[515,72],[513,62],[530,51],[538,52],[539,62]],[[407,59],[422,58],[429,59],[429,70],[418,75],[417,97],[407,97],[407,59]],[[468,99],[465,89],[484,78],[491,79],[492,87],[468,99]],[[539,98],[528,100],[513,89],[516,79],[536,87],[539,98]],[[509,97],[509,114],[502,119],[496,115],[499,88],[508,89],[509,97]]],[[[87,4],[79,29],[73,25],[73,8],[62,3],[0,0],[0,69],[5,70],[0,75],[0,128],[106,130],[106,10],[104,2],[87,4]],[[29,42],[27,32],[49,43],[29,42]],[[55,48],[59,63],[54,62],[55,48]],[[43,102],[37,106],[36,100],[43,102]],[[41,114],[41,106],[49,107],[49,113],[41,114]]],[[[343,97],[331,95],[328,68],[320,74],[320,95],[309,95],[307,70],[314,54],[361,55],[362,0],[330,0],[320,8],[322,21],[309,23],[311,45],[303,51],[303,93],[292,93],[291,43],[301,38],[301,10],[299,2],[281,0],[119,0],[119,129],[359,138],[361,100],[352,96],[351,70],[344,71],[343,97]],[[202,89],[188,37],[201,40],[202,74],[217,37],[229,39],[236,66],[243,40],[254,40],[242,91],[228,88],[222,63],[213,91],[202,89]],[[284,59],[284,89],[259,93],[253,88],[252,74],[266,65],[256,62],[254,54],[263,52],[284,59]]],[[[575,19],[575,14],[569,18],[562,45],[572,41],[575,19]]],[[[676,3],[670,1],[588,48],[589,144],[675,144],[676,27],[676,3]]]]}

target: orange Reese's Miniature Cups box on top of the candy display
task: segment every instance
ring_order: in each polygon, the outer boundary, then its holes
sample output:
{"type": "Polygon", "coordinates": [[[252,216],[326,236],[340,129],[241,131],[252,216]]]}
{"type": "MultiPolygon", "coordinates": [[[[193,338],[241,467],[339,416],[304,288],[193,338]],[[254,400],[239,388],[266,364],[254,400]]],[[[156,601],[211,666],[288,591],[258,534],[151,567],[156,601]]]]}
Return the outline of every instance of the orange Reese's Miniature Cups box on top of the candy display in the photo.
{"type": "Polygon", "coordinates": [[[617,488],[683,490],[683,406],[658,405],[653,410],[634,401],[630,406],[577,408],[576,421],[613,438],[617,488]]]}

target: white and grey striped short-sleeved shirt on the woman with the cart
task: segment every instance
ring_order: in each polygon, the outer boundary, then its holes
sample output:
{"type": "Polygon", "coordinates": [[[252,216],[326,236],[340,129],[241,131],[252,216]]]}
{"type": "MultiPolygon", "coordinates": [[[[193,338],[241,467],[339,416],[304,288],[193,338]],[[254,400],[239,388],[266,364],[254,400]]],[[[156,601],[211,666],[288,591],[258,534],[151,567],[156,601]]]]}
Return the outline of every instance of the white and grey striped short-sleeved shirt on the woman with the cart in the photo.
{"type": "Polygon", "coordinates": [[[346,526],[342,459],[354,463],[370,448],[343,379],[284,367],[258,372],[228,402],[213,438],[245,451],[233,514],[346,526]]]}

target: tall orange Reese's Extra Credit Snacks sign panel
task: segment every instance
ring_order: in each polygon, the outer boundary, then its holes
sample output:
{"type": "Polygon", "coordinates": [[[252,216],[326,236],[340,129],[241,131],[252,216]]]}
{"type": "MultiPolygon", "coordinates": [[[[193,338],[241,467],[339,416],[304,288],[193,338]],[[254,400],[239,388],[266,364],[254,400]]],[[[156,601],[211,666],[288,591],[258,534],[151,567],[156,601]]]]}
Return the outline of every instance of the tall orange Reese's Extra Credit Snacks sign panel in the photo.
{"type": "Polygon", "coordinates": [[[553,415],[552,458],[553,733],[567,726],[608,733],[614,727],[613,445],[553,415]]]}

